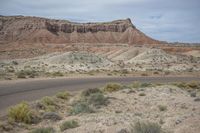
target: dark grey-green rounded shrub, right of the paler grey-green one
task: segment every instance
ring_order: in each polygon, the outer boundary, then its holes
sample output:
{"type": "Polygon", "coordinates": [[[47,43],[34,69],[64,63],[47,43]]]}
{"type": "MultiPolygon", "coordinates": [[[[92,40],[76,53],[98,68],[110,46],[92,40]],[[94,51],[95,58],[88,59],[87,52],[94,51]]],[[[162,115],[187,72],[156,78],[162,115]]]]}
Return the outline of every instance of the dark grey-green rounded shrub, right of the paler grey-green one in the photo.
{"type": "Polygon", "coordinates": [[[106,105],[107,98],[102,93],[94,93],[88,98],[88,103],[99,107],[101,105],[106,105]]]}

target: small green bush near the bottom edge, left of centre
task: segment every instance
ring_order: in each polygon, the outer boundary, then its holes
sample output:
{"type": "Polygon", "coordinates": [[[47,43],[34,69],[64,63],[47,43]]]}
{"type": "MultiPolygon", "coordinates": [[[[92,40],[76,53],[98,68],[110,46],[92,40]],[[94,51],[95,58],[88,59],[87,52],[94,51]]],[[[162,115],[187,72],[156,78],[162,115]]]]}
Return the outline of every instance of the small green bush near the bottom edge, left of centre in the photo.
{"type": "Polygon", "coordinates": [[[78,126],[79,126],[79,124],[76,120],[69,120],[69,121],[65,121],[64,123],[61,124],[60,130],[64,131],[66,129],[76,128],[78,126]]]}

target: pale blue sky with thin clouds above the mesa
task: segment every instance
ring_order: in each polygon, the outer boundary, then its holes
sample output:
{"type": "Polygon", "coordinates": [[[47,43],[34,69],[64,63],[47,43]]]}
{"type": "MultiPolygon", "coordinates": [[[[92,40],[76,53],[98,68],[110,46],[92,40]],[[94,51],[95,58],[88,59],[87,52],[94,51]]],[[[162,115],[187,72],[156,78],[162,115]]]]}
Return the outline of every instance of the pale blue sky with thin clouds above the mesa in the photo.
{"type": "Polygon", "coordinates": [[[0,15],[74,22],[130,18],[142,32],[168,42],[200,42],[200,0],[0,0],[0,15]]]}

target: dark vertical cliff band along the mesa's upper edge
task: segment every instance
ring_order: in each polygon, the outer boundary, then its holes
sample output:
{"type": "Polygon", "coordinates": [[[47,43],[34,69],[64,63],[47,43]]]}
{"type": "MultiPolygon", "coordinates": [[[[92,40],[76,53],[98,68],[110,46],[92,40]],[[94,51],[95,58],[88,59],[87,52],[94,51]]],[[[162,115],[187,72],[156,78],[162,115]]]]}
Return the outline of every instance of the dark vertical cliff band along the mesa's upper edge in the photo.
{"type": "Polygon", "coordinates": [[[112,21],[108,23],[57,23],[57,22],[51,22],[46,21],[45,22],[46,28],[51,32],[65,32],[65,33],[72,33],[72,32],[78,32],[78,33],[86,33],[86,32],[124,32],[129,27],[135,28],[135,26],[132,25],[130,19],[126,20],[117,20],[112,21]]]}

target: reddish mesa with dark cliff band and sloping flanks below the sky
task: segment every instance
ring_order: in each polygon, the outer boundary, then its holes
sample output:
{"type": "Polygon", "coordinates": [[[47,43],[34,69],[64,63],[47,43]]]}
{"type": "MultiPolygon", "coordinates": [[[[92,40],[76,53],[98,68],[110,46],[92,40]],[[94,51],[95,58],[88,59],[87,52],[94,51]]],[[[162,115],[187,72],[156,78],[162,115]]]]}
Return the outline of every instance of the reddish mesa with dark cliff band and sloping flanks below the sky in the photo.
{"type": "Polygon", "coordinates": [[[0,42],[158,44],[130,19],[104,23],[74,23],[39,17],[0,16],[0,42]]]}

